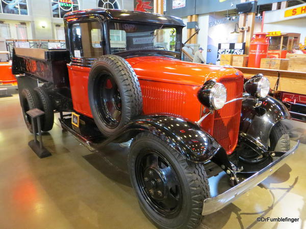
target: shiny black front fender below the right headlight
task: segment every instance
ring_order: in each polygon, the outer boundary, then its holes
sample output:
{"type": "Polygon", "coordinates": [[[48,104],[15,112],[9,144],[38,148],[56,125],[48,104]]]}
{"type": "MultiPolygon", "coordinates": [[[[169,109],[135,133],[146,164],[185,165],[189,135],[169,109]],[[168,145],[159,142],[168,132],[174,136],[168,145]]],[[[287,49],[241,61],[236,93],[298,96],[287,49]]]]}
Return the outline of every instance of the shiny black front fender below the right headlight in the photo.
{"type": "Polygon", "coordinates": [[[247,141],[256,150],[267,151],[272,127],[283,119],[290,119],[286,106],[277,99],[267,96],[256,100],[243,100],[240,119],[239,140],[247,141]]]}

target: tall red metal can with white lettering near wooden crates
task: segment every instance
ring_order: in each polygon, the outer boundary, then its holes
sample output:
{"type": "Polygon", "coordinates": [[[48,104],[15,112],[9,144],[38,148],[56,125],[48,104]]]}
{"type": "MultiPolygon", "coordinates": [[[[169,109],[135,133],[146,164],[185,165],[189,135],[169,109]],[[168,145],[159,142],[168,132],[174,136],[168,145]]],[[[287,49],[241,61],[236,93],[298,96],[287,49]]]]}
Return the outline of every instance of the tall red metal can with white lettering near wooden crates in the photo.
{"type": "Polygon", "coordinates": [[[262,58],[267,58],[269,48],[269,37],[267,33],[256,33],[252,37],[249,48],[249,59],[247,67],[260,68],[262,58]]]}

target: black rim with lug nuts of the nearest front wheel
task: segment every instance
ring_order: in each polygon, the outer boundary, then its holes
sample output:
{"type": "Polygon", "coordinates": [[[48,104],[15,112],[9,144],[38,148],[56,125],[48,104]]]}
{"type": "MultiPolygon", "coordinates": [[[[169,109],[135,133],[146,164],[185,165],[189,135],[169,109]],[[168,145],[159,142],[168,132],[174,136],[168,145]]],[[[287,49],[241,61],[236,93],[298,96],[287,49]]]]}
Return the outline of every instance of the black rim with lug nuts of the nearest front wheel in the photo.
{"type": "Polygon", "coordinates": [[[158,214],[173,218],[183,204],[182,187],[167,159],[146,150],[136,160],[136,180],[145,202],[158,214]]]}

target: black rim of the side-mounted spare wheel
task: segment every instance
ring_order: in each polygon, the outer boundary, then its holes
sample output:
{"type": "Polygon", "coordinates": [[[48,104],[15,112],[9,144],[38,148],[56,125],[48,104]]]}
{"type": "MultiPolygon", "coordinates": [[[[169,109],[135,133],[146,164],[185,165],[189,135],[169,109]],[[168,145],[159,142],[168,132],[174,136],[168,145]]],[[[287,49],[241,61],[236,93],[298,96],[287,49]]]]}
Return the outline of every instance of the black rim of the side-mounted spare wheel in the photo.
{"type": "Polygon", "coordinates": [[[122,103],[118,85],[109,73],[102,73],[95,85],[95,101],[100,118],[109,128],[121,121],[122,103]]]}

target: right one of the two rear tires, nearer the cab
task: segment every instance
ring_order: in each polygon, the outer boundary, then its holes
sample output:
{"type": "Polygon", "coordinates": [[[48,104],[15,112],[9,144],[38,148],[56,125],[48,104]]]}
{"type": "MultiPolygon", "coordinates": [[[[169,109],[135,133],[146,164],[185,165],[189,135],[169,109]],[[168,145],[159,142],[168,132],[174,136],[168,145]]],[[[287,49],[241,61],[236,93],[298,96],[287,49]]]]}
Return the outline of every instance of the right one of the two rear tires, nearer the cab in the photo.
{"type": "Polygon", "coordinates": [[[49,131],[53,128],[54,123],[54,111],[53,104],[44,88],[38,87],[34,89],[41,103],[41,109],[44,111],[44,115],[41,117],[41,130],[49,131]]]}

